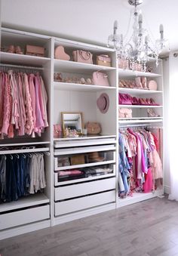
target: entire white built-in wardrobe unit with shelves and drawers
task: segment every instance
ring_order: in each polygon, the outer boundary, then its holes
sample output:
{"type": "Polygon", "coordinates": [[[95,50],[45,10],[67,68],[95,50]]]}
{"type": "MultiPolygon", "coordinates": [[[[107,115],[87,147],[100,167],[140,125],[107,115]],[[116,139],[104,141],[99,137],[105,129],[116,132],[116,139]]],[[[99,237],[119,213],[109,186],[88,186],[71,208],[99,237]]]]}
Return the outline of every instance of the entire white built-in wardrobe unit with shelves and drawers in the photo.
{"type": "MultiPolygon", "coordinates": [[[[25,46],[38,45],[45,48],[45,57],[28,56],[26,54],[11,54],[0,52],[2,66],[7,69],[16,67],[38,71],[44,79],[48,93],[48,122],[49,127],[41,137],[14,137],[1,140],[1,147],[12,147],[12,150],[0,150],[0,155],[5,153],[44,153],[47,187],[44,193],[26,196],[17,202],[0,204],[0,239],[16,236],[43,227],[72,221],[74,219],[108,211],[133,202],[159,196],[133,195],[133,198],[118,199],[117,174],[118,174],[118,127],[130,124],[163,125],[163,89],[161,78],[161,65],[154,73],[133,72],[131,70],[117,69],[116,53],[111,48],[99,45],[89,45],[66,39],[54,38],[47,35],[38,35],[14,29],[2,28],[1,46],[7,50],[9,45],[20,45],[25,51],[25,46]],[[72,57],[72,51],[78,49],[91,51],[94,64],[77,63],[72,60],[54,59],[54,49],[63,45],[67,54],[72,57]],[[112,66],[96,65],[99,54],[108,54],[112,58],[112,66]],[[66,76],[84,77],[92,79],[93,72],[106,72],[110,86],[81,85],[71,82],[54,81],[54,72],[65,73],[66,76]],[[146,76],[158,82],[158,91],[118,88],[118,79],[133,79],[136,76],[146,76]],[[152,97],[160,106],[130,106],[118,105],[118,92],[133,96],[152,97]],[[97,108],[97,98],[100,94],[109,96],[109,109],[107,113],[100,113],[97,108]],[[132,119],[118,119],[118,108],[129,107],[133,110],[132,119]],[[148,118],[146,109],[153,108],[160,117],[148,118]],[[83,122],[100,122],[102,133],[93,136],[60,137],[54,138],[54,125],[61,124],[62,112],[81,112],[83,122]],[[36,146],[36,148],[32,148],[36,146]],[[23,147],[23,150],[14,147],[23,147]],[[45,152],[50,152],[50,156],[45,152]],[[59,166],[60,157],[79,156],[98,153],[103,156],[103,161],[84,162],[76,165],[59,166]],[[86,175],[75,180],[61,180],[59,171],[78,168],[109,168],[110,172],[97,175],[86,175]]],[[[154,66],[154,63],[150,63],[154,66]]]]}

